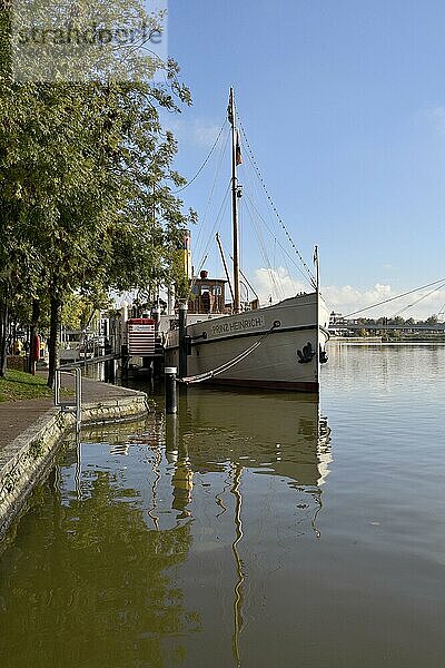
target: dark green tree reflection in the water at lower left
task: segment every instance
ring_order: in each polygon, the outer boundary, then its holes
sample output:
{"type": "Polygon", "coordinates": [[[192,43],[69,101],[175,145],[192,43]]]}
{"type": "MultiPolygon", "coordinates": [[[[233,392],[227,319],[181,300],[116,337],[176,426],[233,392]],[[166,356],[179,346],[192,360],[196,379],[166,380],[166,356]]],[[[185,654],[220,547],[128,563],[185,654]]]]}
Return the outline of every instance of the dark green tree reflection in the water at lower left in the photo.
{"type": "Polygon", "coordinates": [[[149,530],[140,493],[118,485],[112,471],[90,473],[88,487],[80,500],[67,495],[53,473],[3,556],[3,668],[169,667],[184,658],[181,635],[200,627],[174,581],[189,525],[149,530]]]}

